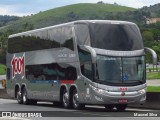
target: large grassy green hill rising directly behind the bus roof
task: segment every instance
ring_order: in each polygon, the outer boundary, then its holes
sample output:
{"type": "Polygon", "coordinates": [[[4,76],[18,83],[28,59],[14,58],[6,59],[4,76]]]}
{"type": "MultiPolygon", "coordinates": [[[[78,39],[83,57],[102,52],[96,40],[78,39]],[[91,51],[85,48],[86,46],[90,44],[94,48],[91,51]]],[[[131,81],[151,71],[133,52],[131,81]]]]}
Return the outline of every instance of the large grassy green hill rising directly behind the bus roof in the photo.
{"type": "Polygon", "coordinates": [[[113,16],[119,12],[123,13],[126,11],[135,10],[136,9],[134,8],[113,4],[74,4],[23,17],[22,19],[15,22],[10,22],[5,27],[1,27],[0,31],[12,28],[14,33],[16,33],[33,28],[41,28],[74,20],[113,19],[113,16]]]}

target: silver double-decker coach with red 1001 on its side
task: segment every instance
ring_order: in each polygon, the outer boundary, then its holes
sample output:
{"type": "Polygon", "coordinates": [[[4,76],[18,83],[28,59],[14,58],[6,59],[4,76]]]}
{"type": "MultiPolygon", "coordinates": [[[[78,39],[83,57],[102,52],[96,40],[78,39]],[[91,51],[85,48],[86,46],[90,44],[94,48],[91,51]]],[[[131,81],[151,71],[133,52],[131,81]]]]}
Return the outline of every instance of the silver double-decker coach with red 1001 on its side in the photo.
{"type": "Polygon", "coordinates": [[[74,109],[143,104],[140,31],[132,22],[80,20],[10,35],[7,92],[19,104],[50,101],[74,109]]]}

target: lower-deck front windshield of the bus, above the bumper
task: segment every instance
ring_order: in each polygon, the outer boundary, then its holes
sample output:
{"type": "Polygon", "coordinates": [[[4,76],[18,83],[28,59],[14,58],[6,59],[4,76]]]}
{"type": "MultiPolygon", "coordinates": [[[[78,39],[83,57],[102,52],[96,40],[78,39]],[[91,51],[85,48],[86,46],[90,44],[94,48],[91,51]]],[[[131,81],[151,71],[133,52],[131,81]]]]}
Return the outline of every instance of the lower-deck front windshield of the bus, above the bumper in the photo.
{"type": "Polygon", "coordinates": [[[144,56],[110,57],[97,55],[97,78],[101,82],[108,83],[144,83],[144,56]]]}

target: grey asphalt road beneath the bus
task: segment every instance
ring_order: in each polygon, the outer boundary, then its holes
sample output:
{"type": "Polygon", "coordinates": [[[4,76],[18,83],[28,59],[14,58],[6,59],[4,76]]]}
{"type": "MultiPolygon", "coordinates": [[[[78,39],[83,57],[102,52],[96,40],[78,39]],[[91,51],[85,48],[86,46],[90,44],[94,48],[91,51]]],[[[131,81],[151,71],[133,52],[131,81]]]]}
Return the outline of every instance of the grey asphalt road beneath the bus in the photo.
{"type": "MultiPolygon", "coordinates": [[[[103,106],[86,106],[84,110],[73,110],[73,109],[64,109],[62,107],[55,107],[52,103],[39,102],[37,105],[20,105],[17,104],[16,100],[10,99],[0,99],[0,119],[16,119],[16,120],[45,120],[45,119],[98,119],[98,120],[142,120],[142,117],[135,117],[135,114],[148,114],[154,116],[157,114],[160,117],[160,111],[151,110],[151,109],[138,109],[138,108],[127,108],[124,112],[118,112],[116,109],[109,112],[103,106]],[[3,112],[3,113],[2,113],[3,112]],[[8,112],[8,113],[6,113],[8,112]],[[23,117],[25,115],[33,115],[35,113],[38,117],[23,117]],[[152,114],[153,113],[153,114],[152,114]],[[6,114],[11,114],[14,117],[4,117],[6,114]],[[19,116],[18,116],[19,115],[19,116]]],[[[7,116],[8,116],[7,115],[7,116]]],[[[159,117],[154,118],[153,116],[145,117],[146,120],[155,120],[159,117]]]]}

